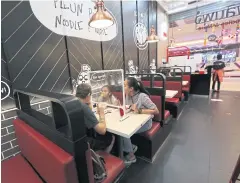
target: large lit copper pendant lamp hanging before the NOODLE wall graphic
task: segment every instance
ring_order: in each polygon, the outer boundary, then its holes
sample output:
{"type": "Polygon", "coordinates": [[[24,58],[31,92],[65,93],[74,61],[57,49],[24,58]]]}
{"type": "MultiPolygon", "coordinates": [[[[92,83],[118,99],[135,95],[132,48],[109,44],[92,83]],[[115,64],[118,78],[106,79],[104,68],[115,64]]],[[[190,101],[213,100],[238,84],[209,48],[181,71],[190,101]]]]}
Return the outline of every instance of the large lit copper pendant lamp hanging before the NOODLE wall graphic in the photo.
{"type": "Polygon", "coordinates": [[[97,0],[96,6],[94,8],[97,9],[97,12],[93,14],[88,22],[88,25],[90,27],[103,29],[114,24],[114,19],[112,15],[106,10],[104,2],[102,0],[97,0]]]}

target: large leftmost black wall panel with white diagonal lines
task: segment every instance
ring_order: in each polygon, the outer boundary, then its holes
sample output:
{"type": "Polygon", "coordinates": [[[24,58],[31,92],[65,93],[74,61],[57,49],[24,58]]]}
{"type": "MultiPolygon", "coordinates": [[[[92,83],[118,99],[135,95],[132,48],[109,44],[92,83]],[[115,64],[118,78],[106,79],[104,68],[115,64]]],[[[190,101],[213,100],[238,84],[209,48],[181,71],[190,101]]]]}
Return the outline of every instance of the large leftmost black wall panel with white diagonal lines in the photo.
{"type": "Polygon", "coordinates": [[[2,9],[2,44],[13,87],[70,92],[64,36],[44,27],[28,1],[3,1],[2,9]]]}

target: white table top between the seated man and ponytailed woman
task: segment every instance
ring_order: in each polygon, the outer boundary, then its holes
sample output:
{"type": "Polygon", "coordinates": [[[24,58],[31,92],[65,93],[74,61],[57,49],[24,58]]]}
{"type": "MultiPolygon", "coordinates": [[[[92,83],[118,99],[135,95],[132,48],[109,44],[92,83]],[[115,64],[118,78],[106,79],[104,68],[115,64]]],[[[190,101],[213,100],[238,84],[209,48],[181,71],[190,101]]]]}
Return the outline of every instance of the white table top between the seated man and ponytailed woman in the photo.
{"type": "Polygon", "coordinates": [[[126,114],[129,116],[120,121],[119,109],[113,110],[111,113],[105,114],[107,131],[113,134],[130,138],[135,134],[149,119],[153,116],[149,114],[126,114]]]}

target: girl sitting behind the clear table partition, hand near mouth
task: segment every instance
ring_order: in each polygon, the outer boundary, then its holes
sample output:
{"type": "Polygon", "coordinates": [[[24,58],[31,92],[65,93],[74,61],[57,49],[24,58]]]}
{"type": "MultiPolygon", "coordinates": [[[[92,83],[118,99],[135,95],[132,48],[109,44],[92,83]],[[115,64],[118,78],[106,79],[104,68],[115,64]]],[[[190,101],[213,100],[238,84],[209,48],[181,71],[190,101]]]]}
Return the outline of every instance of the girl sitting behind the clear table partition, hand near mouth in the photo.
{"type": "Polygon", "coordinates": [[[112,94],[112,89],[109,85],[102,87],[101,96],[98,98],[98,102],[106,102],[111,105],[120,105],[119,100],[112,94]]]}

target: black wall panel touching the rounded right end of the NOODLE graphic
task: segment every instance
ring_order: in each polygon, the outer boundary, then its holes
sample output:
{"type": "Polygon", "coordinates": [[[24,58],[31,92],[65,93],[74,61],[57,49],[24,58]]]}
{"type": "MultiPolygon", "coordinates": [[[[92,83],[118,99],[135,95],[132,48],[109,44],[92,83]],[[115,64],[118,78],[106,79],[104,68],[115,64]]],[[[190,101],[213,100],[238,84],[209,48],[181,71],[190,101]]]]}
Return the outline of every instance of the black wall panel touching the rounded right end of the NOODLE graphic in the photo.
{"type": "Polygon", "coordinates": [[[121,2],[105,1],[105,6],[116,18],[118,25],[118,34],[111,41],[102,42],[103,65],[105,70],[123,69],[123,40],[122,40],[122,20],[121,20],[121,2]]]}

